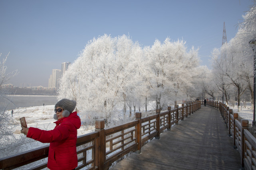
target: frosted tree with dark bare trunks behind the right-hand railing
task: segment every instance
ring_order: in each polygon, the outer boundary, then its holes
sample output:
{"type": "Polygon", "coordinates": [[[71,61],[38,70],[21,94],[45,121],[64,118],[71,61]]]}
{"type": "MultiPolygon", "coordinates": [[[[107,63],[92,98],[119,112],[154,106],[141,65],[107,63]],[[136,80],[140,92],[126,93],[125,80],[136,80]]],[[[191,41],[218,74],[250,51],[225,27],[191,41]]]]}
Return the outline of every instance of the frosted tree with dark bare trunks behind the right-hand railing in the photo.
{"type": "MultiPolygon", "coordinates": [[[[252,62],[245,60],[248,53],[248,46],[244,46],[242,38],[244,31],[240,30],[236,37],[224,44],[219,50],[215,49],[212,53],[214,72],[220,77],[216,82],[224,83],[224,93],[227,99],[226,87],[233,85],[237,90],[238,106],[240,98],[250,84],[252,75],[252,62]]],[[[220,86],[222,87],[222,86],[220,86]]],[[[239,111],[239,107],[238,107],[239,111]]]]}

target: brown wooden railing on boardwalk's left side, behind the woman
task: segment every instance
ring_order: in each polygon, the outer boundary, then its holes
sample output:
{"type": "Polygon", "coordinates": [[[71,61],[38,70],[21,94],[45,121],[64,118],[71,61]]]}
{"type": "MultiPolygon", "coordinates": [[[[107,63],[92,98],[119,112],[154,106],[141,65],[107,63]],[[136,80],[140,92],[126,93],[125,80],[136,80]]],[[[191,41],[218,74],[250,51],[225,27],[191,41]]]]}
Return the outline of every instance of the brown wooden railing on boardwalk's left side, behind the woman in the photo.
{"type": "MultiPolygon", "coordinates": [[[[141,117],[141,112],[136,112],[134,121],[119,126],[106,128],[104,120],[95,121],[95,132],[77,137],[78,166],[75,169],[86,167],[88,170],[108,169],[111,164],[124,155],[135,152],[141,153],[141,147],[151,139],[160,138],[165,130],[171,130],[173,124],[179,124],[190,114],[201,107],[200,101],[178,105],[174,109],[168,107],[165,112],[156,110],[156,114],[141,117]]],[[[49,145],[32,149],[23,153],[0,158],[0,169],[14,169],[42,160],[48,157],[49,145]]],[[[36,162],[30,165],[31,170],[46,168],[45,163],[36,162]]]]}

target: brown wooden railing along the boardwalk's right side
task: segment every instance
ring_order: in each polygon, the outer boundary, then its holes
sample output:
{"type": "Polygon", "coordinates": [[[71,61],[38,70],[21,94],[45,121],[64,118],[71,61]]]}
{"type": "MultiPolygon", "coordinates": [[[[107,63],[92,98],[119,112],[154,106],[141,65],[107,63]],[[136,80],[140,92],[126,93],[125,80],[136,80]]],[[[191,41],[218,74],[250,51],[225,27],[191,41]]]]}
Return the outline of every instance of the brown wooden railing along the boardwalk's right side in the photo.
{"type": "MultiPolygon", "coordinates": [[[[217,103],[217,102],[216,102],[217,103]]],[[[208,105],[212,106],[210,102],[208,105]]],[[[241,166],[244,169],[256,169],[256,138],[248,131],[249,121],[238,120],[238,113],[233,113],[227,105],[219,102],[219,110],[229,135],[233,137],[234,149],[240,153],[241,166]]]]}

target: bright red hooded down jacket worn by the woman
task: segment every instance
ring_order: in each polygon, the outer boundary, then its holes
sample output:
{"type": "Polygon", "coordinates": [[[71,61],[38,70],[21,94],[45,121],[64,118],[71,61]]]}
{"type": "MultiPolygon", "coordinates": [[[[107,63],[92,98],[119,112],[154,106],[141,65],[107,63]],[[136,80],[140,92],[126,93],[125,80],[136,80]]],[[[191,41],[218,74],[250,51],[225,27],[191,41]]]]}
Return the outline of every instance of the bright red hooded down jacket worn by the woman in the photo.
{"type": "Polygon", "coordinates": [[[77,112],[57,120],[53,130],[30,127],[27,137],[50,143],[47,167],[50,170],[72,170],[77,167],[76,141],[77,129],[81,120],[77,112]]]}

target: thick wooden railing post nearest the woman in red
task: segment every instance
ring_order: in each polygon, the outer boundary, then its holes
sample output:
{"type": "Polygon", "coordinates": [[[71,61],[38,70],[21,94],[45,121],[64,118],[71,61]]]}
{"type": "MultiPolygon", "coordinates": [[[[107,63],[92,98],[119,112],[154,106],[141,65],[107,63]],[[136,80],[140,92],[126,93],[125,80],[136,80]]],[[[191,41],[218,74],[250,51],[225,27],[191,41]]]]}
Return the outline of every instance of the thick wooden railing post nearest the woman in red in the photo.
{"type": "Polygon", "coordinates": [[[104,120],[95,120],[95,131],[99,132],[99,137],[95,142],[95,166],[99,167],[99,170],[104,169],[105,162],[105,121],[104,120]]]}

